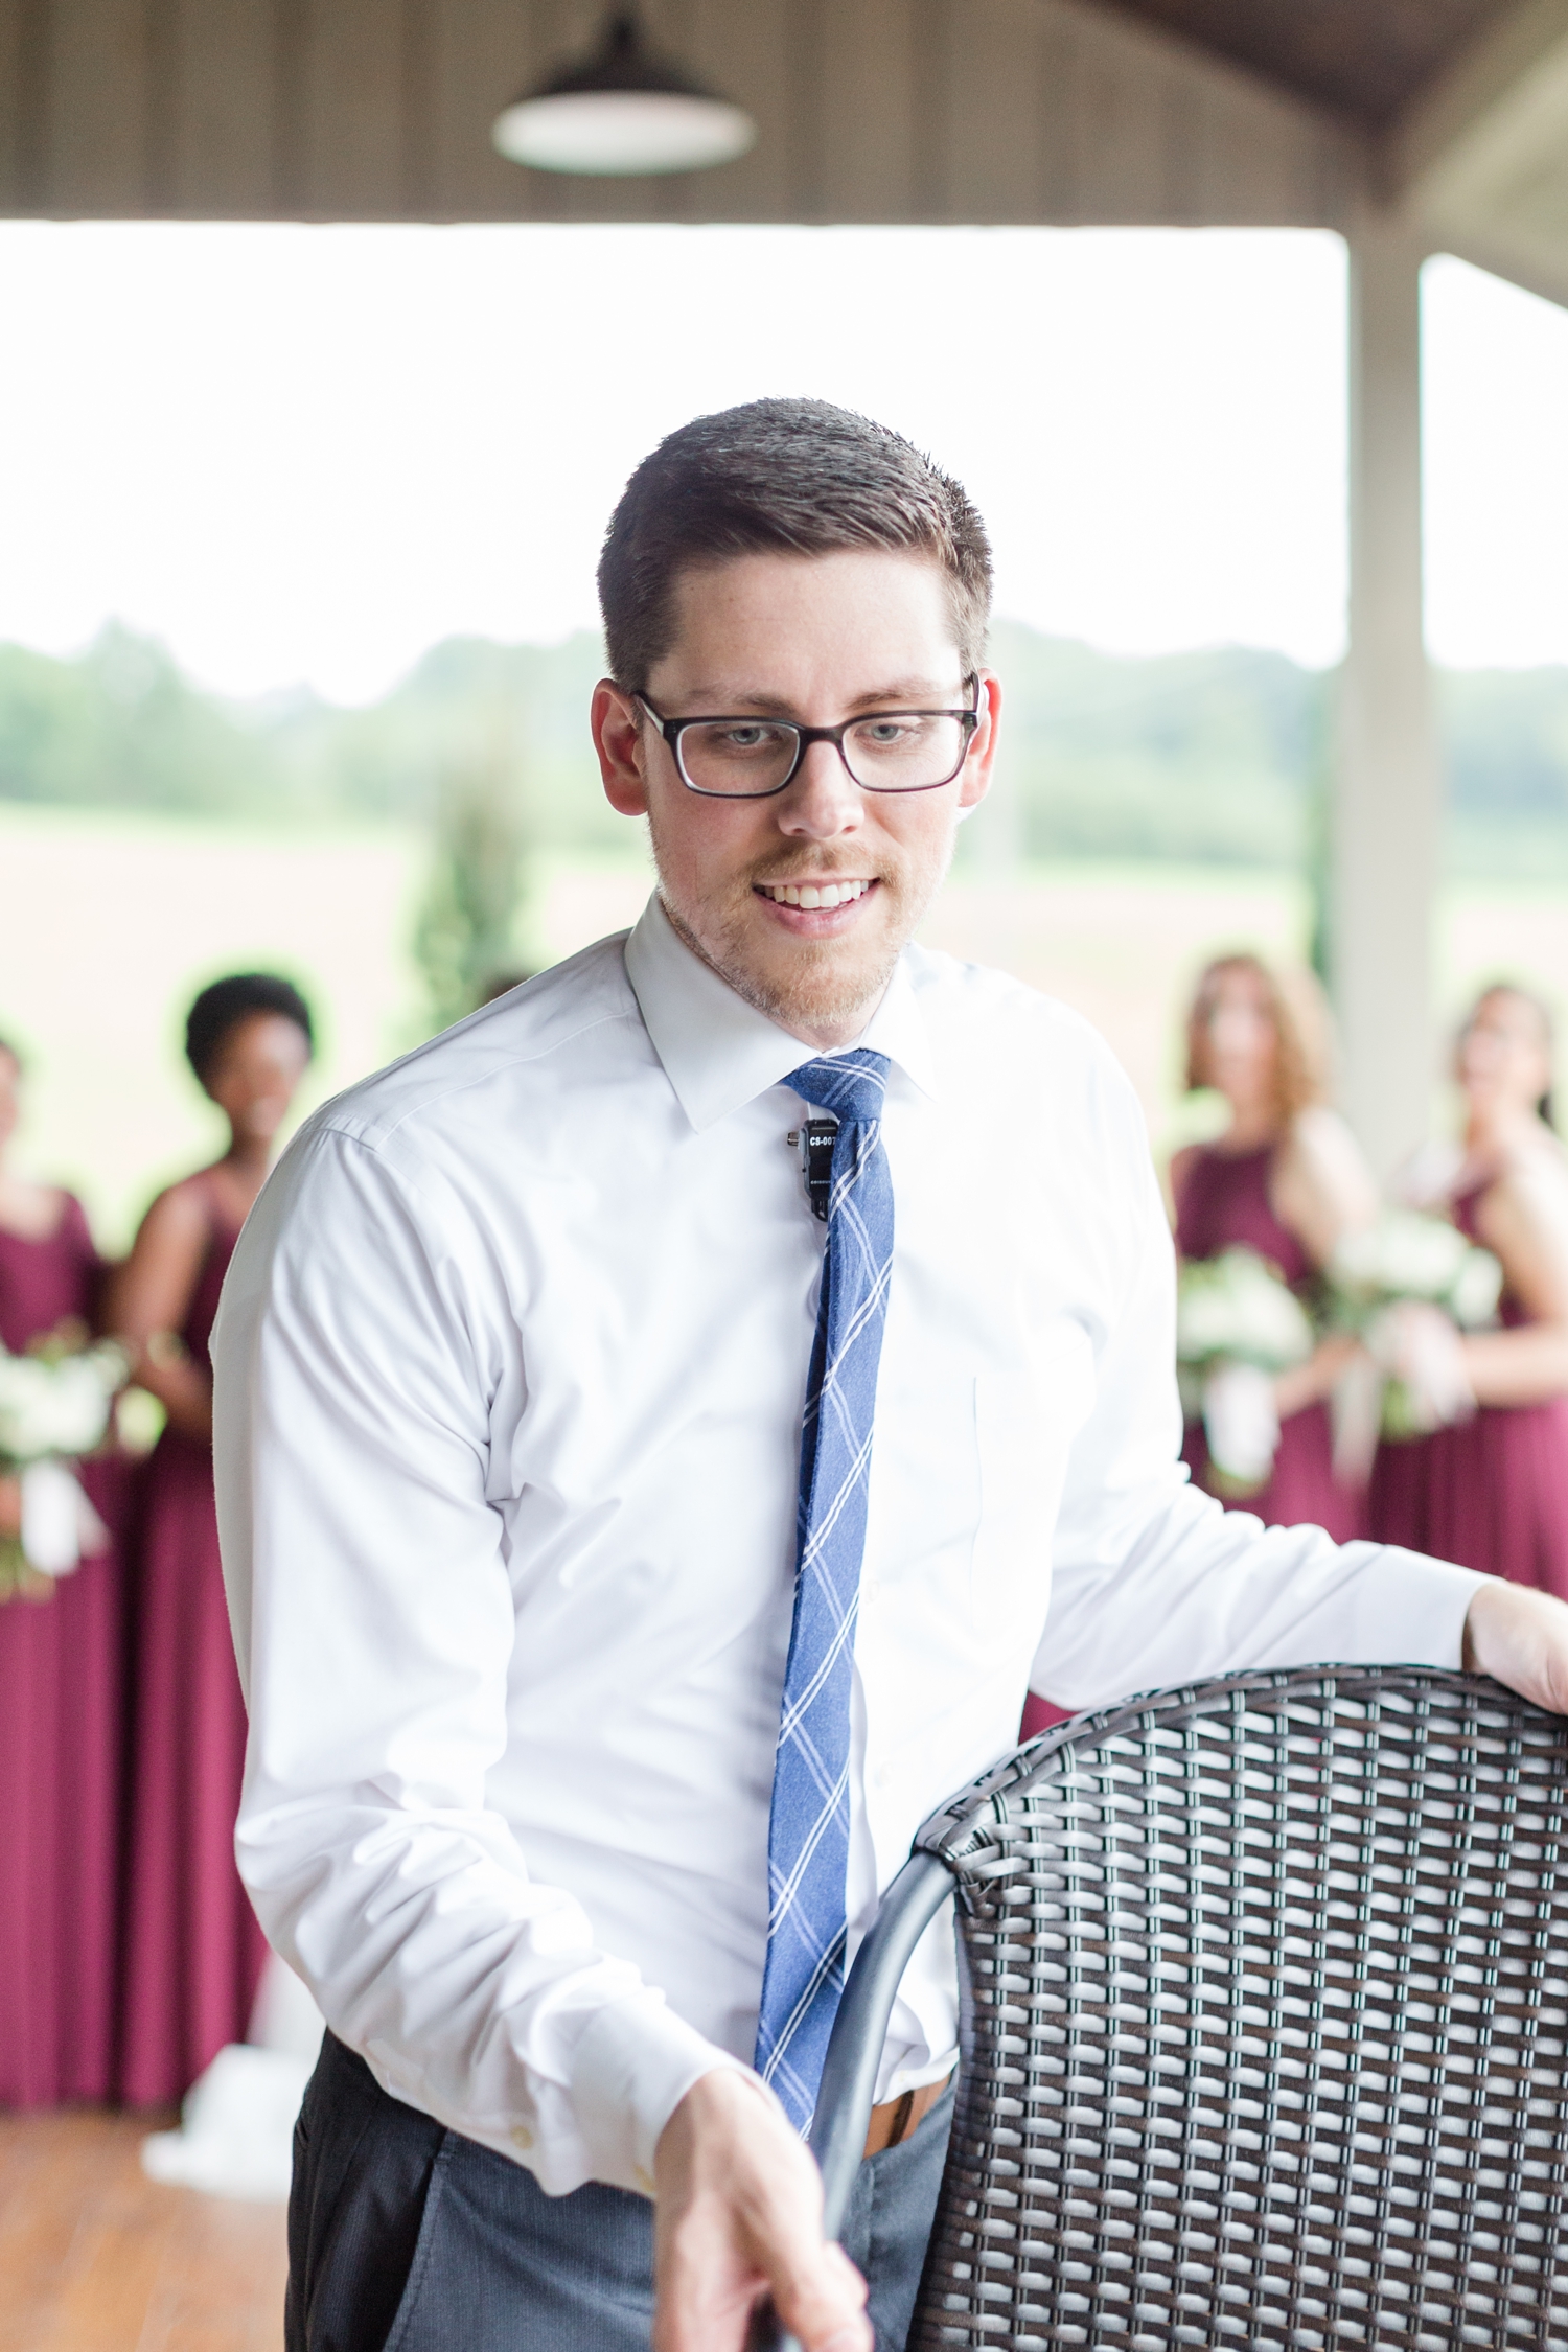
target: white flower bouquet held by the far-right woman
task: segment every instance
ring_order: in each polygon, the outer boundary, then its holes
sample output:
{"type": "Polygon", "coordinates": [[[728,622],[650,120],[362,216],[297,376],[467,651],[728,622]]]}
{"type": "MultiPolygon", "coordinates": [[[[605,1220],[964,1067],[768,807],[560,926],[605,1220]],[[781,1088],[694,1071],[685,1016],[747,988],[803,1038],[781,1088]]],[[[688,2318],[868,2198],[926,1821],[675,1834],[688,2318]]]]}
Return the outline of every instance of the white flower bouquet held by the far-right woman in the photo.
{"type": "Polygon", "coordinates": [[[1328,1287],[1363,1348],[1335,1390],[1335,1465],[1359,1479],[1380,1435],[1425,1437],[1474,1411],[1460,1334],[1493,1322],[1502,1268],[1446,1218],[1389,1209],[1345,1235],[1328,1287]]]}

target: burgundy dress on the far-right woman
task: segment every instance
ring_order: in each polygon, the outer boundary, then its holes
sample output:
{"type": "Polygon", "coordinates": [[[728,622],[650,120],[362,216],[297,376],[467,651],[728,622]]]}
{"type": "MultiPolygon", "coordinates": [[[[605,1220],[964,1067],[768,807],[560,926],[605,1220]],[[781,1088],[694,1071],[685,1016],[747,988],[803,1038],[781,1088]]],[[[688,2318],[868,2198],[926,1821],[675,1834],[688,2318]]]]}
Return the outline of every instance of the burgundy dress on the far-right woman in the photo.
{"type": "MultiPolygon", "coordinates": [[[[1469,1240],[1486,1185],[1453,1202],[1469,1240]]],[[[1502,1324],[1530,1317],[1502,1296],[1502,1324]]],[[[1371,1534],[1568,1599],[1568,1397],[1483,1404],[1432,1437],[1385,1439],[1373,1463],[1371,1534]]]]}

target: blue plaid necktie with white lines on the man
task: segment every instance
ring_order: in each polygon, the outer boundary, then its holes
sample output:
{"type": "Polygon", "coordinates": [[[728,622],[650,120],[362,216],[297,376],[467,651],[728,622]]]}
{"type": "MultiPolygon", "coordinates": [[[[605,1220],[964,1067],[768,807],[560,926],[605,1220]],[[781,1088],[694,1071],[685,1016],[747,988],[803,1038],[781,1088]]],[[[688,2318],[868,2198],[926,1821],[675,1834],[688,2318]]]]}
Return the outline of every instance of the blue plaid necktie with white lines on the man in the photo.
{"type": "Polygon", "coordinates": [[[882,1148],[886,1054],[825,1054],[785,1087],[832,1110],[827,1251],[799,1444],[795,1623],[769,1816],[769,1957],[757,2072],[806,2131],[844,1992],[849,1684],[865,1550],[877,1364],[893,1265],[882,1148]]]}

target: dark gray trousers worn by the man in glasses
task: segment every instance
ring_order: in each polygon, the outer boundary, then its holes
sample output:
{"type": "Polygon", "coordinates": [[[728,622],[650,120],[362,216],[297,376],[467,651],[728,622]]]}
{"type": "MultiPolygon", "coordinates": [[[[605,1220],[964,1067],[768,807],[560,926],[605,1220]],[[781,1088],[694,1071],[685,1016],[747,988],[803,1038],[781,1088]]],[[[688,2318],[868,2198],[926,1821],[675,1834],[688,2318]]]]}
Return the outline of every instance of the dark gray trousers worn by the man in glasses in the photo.
{"type": "MultiPolygon", "coordinates": [[[[844,2246],[877,2352],[903,2352],[952,2091],[858,2176],[844,2246]]],[[[646,2352],[654,2206],[520,2164],[388,2098],[331,2034],[294,2131],[287,2352],[646,2352]]]]}

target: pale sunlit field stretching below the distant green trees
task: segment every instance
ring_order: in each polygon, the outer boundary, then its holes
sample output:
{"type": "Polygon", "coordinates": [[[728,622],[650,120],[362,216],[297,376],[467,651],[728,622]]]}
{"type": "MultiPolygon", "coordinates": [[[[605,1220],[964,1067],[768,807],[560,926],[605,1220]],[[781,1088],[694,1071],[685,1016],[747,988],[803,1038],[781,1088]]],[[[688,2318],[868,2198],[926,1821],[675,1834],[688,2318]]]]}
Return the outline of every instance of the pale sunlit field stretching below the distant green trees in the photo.
{"type": "MultiPolygon", "coordinates": [[[[92,811],[0,807],[0,1035],[31,1065],[24,1157],[71,1183],[122,1249],[158,1183],[212,1155],[183,1007],[219,971],[289,971],[322,1018],[301,1108],[409,1047],[423,842],[388,828],[289,837],[92,811]]],[[[555,866],[536,931],[562,957],[635,920],[646,868],[555,866]]],[[[1157,1136],[1175,1112],[1175,1023],[1213,948],[1300,953],[1286,880],[1192,868],[1034,868],[950,882],[926,936],[1077,1004],[1110,1037],[1157,1136]]],[[[1568,1002],[1568,889],[1460,889],[1443,906],[1443,1002],[1493,971],[1568,1002]]]]}

